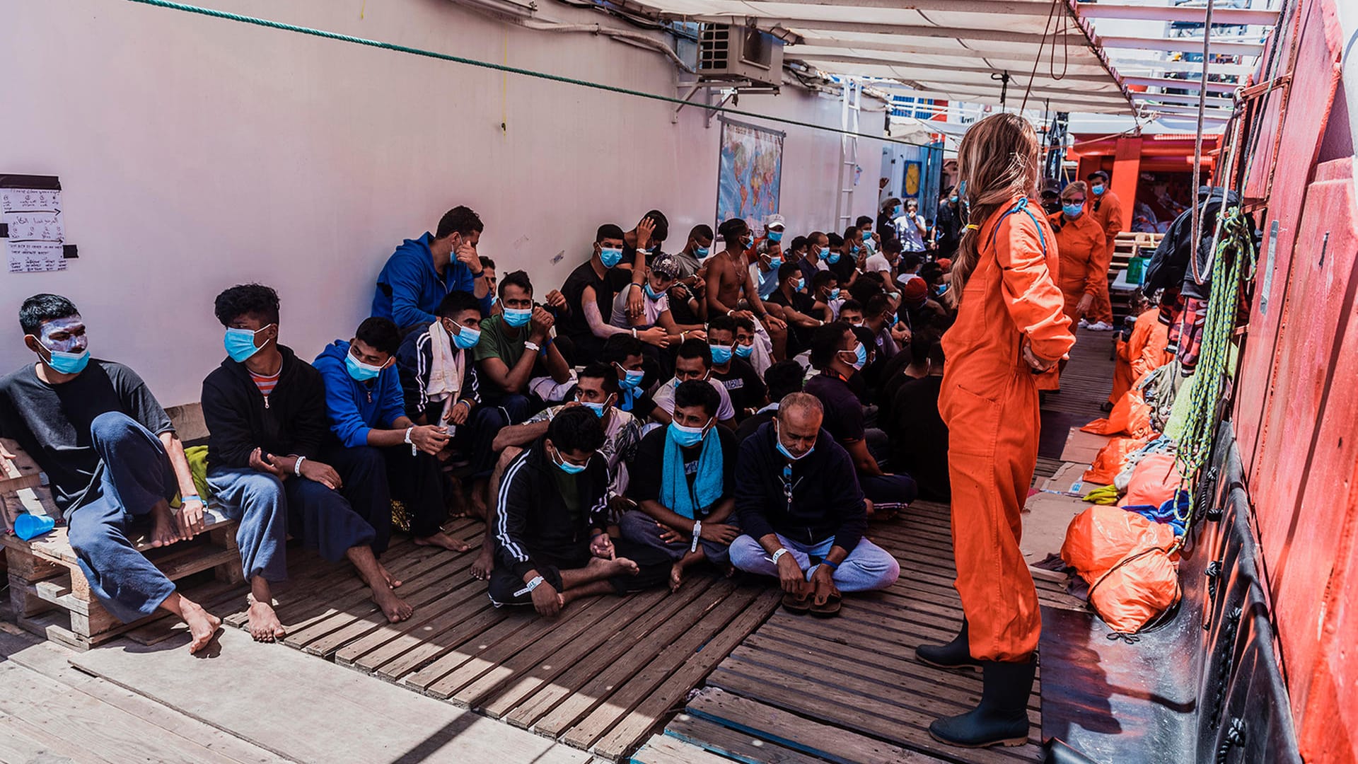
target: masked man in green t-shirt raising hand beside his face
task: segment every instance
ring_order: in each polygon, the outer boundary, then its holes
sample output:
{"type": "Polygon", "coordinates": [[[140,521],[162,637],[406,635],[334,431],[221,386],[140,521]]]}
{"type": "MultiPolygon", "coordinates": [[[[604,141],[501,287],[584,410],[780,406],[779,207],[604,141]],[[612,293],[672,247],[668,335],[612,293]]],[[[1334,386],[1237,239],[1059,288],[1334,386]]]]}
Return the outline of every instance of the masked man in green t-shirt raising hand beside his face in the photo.
{"type": "MultiPolygon", "coordinates": [[[[558,292],[547,295],[549,300],[553,295],[558,292]]],[[[540,305],[532,305],[532,281],[527,273],[515,271],[500,280],[500,315],[481,322],[477,370],[482,400],[502,408],[509,424],[517,424],[534,408],[528,381],[550,375],[562,385],[570,379],[570,367],[553,341],[554,318],[540,305]]]]}

